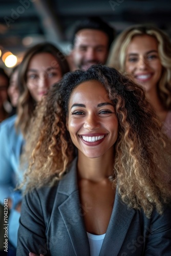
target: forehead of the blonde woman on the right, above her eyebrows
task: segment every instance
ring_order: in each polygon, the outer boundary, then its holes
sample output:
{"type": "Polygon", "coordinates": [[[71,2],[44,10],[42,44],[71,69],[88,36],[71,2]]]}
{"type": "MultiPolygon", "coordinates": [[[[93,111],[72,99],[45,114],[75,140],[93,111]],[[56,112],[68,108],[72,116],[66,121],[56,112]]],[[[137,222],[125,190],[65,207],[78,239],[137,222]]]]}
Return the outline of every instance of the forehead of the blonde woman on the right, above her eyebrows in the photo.
{"type": "Polygon", "coordinates": [[[157,39],[150,35],[136,35],[132,38],[127,52],[158,50],[157,39]]]}

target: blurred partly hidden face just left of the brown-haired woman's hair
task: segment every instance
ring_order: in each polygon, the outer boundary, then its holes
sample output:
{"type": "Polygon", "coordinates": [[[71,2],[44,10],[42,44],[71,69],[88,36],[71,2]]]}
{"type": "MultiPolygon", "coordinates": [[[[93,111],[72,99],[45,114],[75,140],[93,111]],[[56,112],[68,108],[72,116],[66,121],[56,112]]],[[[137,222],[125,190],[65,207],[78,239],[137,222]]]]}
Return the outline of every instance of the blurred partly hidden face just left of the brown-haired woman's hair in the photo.
{"type": "Polygon", "coordinates": [[[15,72],[11,75],[10,84],[8,88],[8,95],[10,97],[11,104],[13,106],[17,105],[18,97],[19,97],[17,78],[18,78],[18,70],[15,70],[15,72]]]}

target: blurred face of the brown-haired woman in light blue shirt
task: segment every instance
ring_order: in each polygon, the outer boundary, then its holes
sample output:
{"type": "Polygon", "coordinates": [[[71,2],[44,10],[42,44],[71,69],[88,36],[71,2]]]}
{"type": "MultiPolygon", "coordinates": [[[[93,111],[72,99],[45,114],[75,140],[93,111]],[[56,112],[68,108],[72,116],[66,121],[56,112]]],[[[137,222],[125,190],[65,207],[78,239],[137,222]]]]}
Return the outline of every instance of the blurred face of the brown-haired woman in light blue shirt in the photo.
{"type": "Polygon", "coordinates": [[[27,69],[27,87],[35,101],[40,101],[62,72],[56,58],[50,53],[35,54],[27,69]]]}

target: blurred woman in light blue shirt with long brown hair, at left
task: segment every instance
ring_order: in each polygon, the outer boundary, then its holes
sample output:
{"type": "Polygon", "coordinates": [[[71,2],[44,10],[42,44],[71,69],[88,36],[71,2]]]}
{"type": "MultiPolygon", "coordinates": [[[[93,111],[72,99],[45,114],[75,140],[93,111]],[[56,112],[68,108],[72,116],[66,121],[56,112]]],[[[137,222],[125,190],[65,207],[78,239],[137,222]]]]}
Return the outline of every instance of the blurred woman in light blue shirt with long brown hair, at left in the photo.
{"type": "Polygon", "coordinates": [[[68,62],[52,44],[45,42],[29,49],[18,70],[19,99],[17,115],[0,125],[0,203],[8,199],[9,243],[16,248],[22,192],[14,188],[22,181],[23,172],[19,169],[20,155],[30,118],[36,106],[53,83],[69,72],[68,62]]]}

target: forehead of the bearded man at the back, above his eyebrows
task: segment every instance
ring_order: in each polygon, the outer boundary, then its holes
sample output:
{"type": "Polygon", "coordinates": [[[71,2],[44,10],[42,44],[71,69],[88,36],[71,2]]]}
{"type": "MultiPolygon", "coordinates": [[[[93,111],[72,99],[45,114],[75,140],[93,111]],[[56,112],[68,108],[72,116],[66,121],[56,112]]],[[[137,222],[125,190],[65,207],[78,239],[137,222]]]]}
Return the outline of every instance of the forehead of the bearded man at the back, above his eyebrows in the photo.
{"type": "Polygon", "coordinates": [[[108,36],[96,29],[81,29],[76,33],[74,46],[78,47],[80,45],[103,45],[108,46],[108,36]]]}

